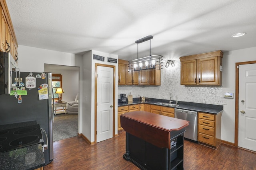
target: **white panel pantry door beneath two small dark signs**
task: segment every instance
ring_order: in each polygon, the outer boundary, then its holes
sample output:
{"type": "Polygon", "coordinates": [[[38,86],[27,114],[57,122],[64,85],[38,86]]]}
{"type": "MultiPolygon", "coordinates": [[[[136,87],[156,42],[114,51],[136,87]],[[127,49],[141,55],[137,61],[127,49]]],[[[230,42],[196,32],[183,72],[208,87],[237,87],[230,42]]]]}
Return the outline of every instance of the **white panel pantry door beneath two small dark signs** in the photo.
{"type": "Polygon", "coordinates": [[[97,66],[96,142],[113,137],[113,68],[97,66]]]}

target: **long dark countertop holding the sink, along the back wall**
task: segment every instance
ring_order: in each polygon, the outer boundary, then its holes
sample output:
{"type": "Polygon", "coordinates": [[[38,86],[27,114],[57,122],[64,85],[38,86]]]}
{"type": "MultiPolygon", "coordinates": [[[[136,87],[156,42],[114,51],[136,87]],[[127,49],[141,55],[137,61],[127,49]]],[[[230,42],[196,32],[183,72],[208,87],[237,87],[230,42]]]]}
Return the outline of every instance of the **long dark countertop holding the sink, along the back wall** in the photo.
{"type": "MultiPolygon", "coordinates": [[[[127,106],[131,104],[154,104],[157,102],[162,102],[162,103],[169,103],[169,100],[164,100],[164,99],[154,99],[154,98],[148,98],[145,102],[139,101],[138,98],[134,98],[133,102],[126,102],[122,103],[120,100],[118,100],[118,106],[127,106]]],[[[173,100],[172,104],[175,104],[175,100],[173,100]]],[[[193,102],[182,102],[178,101],[178,107],[173,107],[177,109],[185,109],[185,110],[192,110],[192,111],[202,111],[206,113],[214,113],[218,114],[223,111],[223,106],[222,105],[214,105],[214,104],[202,104],[202,103],[193,103],[193,102]]],[[[163,106],[163,105],[159,105],[163,106]]],[[[166,106],[170,107],[170,106],[166,106]]]]}

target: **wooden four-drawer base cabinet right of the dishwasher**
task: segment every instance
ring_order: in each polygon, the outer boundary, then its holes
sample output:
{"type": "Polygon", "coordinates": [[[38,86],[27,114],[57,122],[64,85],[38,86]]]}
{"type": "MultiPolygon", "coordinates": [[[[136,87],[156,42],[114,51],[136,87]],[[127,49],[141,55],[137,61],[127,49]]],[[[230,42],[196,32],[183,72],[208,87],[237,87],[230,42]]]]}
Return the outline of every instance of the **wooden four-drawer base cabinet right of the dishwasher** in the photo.
{"type": "Polygon", "coordinates": [[[198,142],[217,149],[221,143],[221,113],[198,112],[198,142]]]}

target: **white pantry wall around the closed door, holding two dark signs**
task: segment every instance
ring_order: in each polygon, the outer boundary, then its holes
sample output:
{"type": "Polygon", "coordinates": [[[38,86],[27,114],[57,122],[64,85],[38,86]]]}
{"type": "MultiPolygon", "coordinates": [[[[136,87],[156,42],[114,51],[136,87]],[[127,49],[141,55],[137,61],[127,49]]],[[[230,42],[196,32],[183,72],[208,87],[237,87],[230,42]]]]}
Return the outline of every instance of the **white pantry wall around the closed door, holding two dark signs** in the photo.
{"type": "MultiPolygon", "coordinates": [[[[108,54],[108,53],[102,53],[99,51],[89,51],[84,55],[84,86],[83,86],[83,91],[84,91],[84,98],[87,97],[87,102],[84,105],[84,109],[86,110],[83,114],[83,124],[85,126],[83,127],[83,134],[91,141],[95,141],[94,139],[94,125],[95,125],[95,119],[94,119],[94,100],[95,100],[95,63],[101,63],[101,64],[107,64],[107,65],[114,65],[116,66],[116,72],[115,74],[118,75],[118,63],[108,63],[108,57],[118,59],[118,55],[113,55],[113,54],[108,54]],[[105,61],[98,61],[93,59],[93,55],[100,55],[102,57],[105,57],[105,61]],[[90,106],[88,106],[90,105],[90,106]],[[90,122],[89,122],[90,121],[90,122]],[[90,127],[89,124],[91,123],[90,127]],[[90,131],[89,131],[90,130],[90,131]]],[[[118,76],[116,76],[116,91],[115,93],[117,94],[118,92],[118,76]]],[[[117,134],[117,98],[115,101],[115,134],[117,134]]],[[[84,99],[85,101],[85,99],[84,99]]],[[[95,141],[96,142],[96,141],[95,141]]]]}

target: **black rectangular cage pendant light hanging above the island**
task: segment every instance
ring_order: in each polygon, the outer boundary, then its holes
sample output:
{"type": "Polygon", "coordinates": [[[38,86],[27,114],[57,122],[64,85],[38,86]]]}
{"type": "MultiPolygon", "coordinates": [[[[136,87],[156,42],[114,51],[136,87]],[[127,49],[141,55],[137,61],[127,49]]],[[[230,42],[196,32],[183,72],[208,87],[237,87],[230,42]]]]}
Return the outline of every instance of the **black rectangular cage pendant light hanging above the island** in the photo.
{"type": "Polygon", "coordinates": [[[151,55],[151,39],[152,35],[148,35],[142,39],[135,41],[137,44],[137,59],[129,61],[129,72],[132,71],[141,71],[141,70],[161,70],[162,69],[162,55],[151,55]],[[149,56],[142,57],[139,59],[139,43],[143,43],[145,41],[150,41],[149,43],[149,56]]]}

